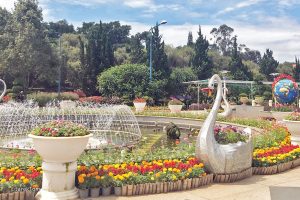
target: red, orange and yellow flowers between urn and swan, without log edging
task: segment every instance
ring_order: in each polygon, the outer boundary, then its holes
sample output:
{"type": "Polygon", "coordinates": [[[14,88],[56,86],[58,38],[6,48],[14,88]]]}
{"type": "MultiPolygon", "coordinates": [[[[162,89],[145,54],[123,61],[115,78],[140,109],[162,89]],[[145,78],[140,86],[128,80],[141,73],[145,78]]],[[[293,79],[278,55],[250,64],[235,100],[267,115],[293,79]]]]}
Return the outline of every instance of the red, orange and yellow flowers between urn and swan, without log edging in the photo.
{"type": "MultiPolygon", "coordinates": [[[[96,195],[103,191],[119,190],[124,185],[138,185],[157,182],[177,182],[184,179],[206,176],[204,165],[195,157],[188,159],[152,160],[118,163],[87,167],[78,166],[77,187],[81,193],[96,189],[96,195]]],[[[92,195],[95,197],[94,195],[92,195]]],[[[86,196],[85,196],[86,197],[86,196]]]]}

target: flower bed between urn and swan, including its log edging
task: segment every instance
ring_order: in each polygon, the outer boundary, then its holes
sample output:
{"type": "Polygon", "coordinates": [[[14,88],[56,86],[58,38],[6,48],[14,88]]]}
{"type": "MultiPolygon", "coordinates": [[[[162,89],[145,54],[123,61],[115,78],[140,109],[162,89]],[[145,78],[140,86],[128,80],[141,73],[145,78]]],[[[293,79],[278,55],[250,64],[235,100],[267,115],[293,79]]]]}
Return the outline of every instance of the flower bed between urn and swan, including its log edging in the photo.
{"type": "Polygon", "coordinates": [[[77,179],[77,187],[82,190],[97,188],[100,193],[102,188],[103,193],[109,188],[118,195],[130,196],[195,188],[212,183],[213,177],[206,174],[203,163],[190,157],[89,168],[82,165],[78,167],[77,179]]]}

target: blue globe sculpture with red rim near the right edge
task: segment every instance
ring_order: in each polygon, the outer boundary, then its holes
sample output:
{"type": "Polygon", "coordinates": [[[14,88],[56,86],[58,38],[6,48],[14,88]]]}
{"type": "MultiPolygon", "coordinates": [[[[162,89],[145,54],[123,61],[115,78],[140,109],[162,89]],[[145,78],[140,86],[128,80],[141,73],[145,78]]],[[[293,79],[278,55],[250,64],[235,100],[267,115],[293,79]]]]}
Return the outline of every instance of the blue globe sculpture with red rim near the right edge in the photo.
{"type": "Polygon", "coordinates": [[[275,80],[273,84],[273,93],[278,103],[291,104],[298,97],[298,86],[289,77],[275,80]]]}

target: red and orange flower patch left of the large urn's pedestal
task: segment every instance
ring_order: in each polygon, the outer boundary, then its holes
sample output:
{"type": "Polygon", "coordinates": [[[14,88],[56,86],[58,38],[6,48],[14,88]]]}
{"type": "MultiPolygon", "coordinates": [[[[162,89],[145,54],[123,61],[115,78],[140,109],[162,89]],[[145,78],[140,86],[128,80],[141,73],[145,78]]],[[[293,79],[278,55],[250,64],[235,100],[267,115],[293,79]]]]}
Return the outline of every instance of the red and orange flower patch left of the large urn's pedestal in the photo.
{"type": "MultiPolygon", "coordinates": [[[[2,199],[33,200],[42,185],[42,168],[0,168],[0,197],[2,199]]],[[[1,199],[1,198],[0,198],[1,199]]]]}

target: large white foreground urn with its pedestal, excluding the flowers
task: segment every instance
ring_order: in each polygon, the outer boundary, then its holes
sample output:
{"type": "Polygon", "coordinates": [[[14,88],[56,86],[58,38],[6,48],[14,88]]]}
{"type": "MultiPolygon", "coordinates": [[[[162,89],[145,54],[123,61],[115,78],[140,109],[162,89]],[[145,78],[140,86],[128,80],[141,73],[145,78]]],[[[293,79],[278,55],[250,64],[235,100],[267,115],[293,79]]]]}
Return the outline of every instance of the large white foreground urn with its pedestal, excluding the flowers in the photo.
{"type": "Polygon", "coordinates": [[[91,136],[44,137],[29,134],[34,149],[43,159],[43,183],[36,195],[37,200],[78,199],[75,188],[76,160],[91,136]]]}

